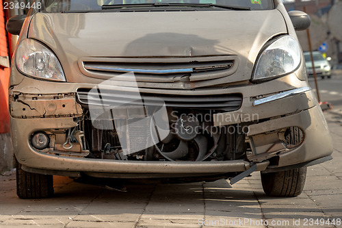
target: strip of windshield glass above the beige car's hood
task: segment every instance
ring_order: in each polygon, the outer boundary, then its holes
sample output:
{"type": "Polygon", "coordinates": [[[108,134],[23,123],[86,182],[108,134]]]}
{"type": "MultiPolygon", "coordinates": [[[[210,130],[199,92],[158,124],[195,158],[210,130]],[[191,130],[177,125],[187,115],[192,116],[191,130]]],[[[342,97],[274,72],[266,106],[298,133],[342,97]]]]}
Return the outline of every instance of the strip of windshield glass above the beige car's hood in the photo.
{"type": "Polygon", "coordinates": [[[231,10],[247,8],[250,10],[271,10],[272,0],[43,0],[42,12],[73,12],[73,11],[98,11],[119,7],[143,7],[157,6],[170,7],[176,4],[177,7],[200,7],[201,4],[228,6],[231,10]],[[170,4],[170,5],[167,5],[170,4]],[[195,5],[196,4],[196,5],[195,5]],[[103,7],[105,6],[105,7],[103,7]]]}

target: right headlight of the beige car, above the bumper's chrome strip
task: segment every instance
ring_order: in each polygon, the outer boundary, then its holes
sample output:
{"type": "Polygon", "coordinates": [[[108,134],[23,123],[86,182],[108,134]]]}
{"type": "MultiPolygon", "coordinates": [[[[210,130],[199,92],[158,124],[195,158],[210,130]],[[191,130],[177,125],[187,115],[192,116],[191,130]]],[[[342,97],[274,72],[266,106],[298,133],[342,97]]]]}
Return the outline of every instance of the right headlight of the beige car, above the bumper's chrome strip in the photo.
{"type": "Polygon", "coordinates": [[[253,80],[266,81],[295,71],[300,65],[301,50],[292,36],[282,36],[263,50],[254,66],[253,80]]]}

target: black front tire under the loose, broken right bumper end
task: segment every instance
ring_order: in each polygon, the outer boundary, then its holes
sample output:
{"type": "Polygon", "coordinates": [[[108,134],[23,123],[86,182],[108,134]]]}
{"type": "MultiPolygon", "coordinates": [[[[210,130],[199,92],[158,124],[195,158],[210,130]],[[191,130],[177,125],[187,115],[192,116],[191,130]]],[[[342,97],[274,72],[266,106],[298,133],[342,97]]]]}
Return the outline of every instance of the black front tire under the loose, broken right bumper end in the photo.
{"type": "Polygon", "coordinates": [[[275,173],[261,173],[263,191],[269,197],[297,197],[304,188],[306,167],[275,173]]]}

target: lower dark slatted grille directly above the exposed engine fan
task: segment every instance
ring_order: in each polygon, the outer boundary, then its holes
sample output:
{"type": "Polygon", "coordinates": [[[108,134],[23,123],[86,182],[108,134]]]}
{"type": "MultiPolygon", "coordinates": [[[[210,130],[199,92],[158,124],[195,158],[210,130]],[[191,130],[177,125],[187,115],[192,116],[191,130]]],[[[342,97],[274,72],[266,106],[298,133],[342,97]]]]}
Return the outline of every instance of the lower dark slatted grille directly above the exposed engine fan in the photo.
{"type": "Polygon", "coordinates": [[[242,103],[241,94],[212,95],[173,95],[154,94],[149,92],[129,92],[116,90],[77,90],[77,99],[81,105],[102,105],[105,107],[150,105],[167,107],[183,107],[194,109],[213,109],[224,111],[238,110],[242,103]]]}

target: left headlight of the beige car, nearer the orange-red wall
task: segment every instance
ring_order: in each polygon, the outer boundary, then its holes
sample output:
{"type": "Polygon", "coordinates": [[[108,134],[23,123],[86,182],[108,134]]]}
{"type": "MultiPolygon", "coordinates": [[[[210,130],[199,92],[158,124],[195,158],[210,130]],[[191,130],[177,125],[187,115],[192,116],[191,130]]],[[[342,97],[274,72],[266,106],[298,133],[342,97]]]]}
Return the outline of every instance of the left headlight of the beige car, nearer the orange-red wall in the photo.
{"type": "Polygon", "coordinates": [[[53,81],[66,81],[56,55],[40,42],[22,40],[16,49],[16,67],[25,75],[53,81]]]}

